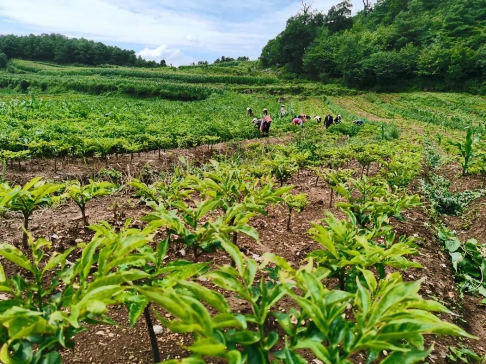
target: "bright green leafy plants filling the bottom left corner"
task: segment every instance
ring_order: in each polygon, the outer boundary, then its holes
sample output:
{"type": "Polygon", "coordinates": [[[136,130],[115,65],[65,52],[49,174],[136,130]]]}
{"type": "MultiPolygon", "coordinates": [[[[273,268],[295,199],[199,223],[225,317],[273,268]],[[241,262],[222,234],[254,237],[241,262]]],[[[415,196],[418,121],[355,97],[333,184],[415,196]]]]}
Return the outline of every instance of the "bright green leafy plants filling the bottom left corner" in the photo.
{"type": "Polygon", "coordinates": [[[106,223],[92,228],[96,234],[77,247],[81,254],[74,263],[68,257],[76,247],[52,252],[50,242],[30,234],[31,258],[0,244],[0,256],[18,267],[8,278],[0,265],[0,291],[9,296],[0,304],[2,363],[60,363],[58,350],[73,347],[87,324],[113,324],[107,307],[123,302],[126,282],[149,276],[133,268],[142,258],[134,250],[152,239],[153,230],[117,234],[106,223]]]}

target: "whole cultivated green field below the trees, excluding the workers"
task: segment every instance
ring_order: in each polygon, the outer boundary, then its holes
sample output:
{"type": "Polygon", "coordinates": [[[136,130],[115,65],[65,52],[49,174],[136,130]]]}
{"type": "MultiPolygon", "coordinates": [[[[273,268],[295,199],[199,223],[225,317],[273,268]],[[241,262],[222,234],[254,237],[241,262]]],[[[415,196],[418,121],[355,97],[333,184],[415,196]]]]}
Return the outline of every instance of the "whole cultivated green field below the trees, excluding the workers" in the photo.
{"type": "Polygon", "coordinates": [[[0,86],[2,363],[482,363],[484,96],[257,62],[0,86]]]}

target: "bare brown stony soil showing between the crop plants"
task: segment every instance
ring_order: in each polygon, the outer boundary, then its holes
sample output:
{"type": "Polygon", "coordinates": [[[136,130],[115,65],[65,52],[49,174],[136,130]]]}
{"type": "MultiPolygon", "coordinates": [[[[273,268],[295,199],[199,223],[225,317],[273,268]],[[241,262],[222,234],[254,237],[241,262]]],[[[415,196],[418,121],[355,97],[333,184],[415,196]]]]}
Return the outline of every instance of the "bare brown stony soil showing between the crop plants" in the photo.
{"type": "MultiPolygon", "coordinates": [[[[261,141],[261,140],[260,140],[261,141]]],[[[266,139],[265,142],[278,143],[280,138],[266,139]]],[[[250,143],[254,141],[248,141],[250,143]]],[[[215,146],[219,152],[224,152],[224,145],[215,146]]],[[[205,161],[209,158],[207,152],[204,151],[206,147],[196,149],[196,155],[193,156],[191,150],[173,150],[174,155],[184,155],[195,158],[199,161],[205,161]]],[[[164,154],[166,156],[167,154],[164,154]]],[[[172,157],[174,158],[174,157],[172,157]]],[[[154,169],[169,169],[170,163],[168,159],[164,162],[157,160],[156,154],[142,153],[140,159],[135,157],[138,167],[141,167],[146,162],[150,162],[154,169]]],[[[115,163],[110,165],[114,165],[115,163]]],[[[129,156],[121,157],[119,161],[120,166],[129,165],[129,156]]],[[[63,166],[60,173],[60,179],[81,177],[86,179],[92,174],[100,164],[89,164],[77,162],[69,167],[63,166]]],[[[124,168],[126,169],[126,167],[124,168]]],[[[376,167],[375,167],[376,169],[376,167]]],[[[373,173],[373,168],[371,173],[373,173]]],[[[35,175],[47,175],[52,178],[55,177],[52,173],[52,161],[28,162],[25,171],[9,171],[7,178],[10,181],[25,182],[35,175]]],[[[324,216],[324,211],[331,211],[333,214],[342,217],[343,215],[336,211],[336,209],[329,209],[330,189],[322,182],[317,187],[314,186],[315,177],[309,170],[300,171],[298,176],[295,176],[288,183],[294,184],[294,193],[306,193],[308,195],[309,205],[301,214],[295,214],[292,217],[291,232],[286,231],[287,211],[282,207],[271,207],[268,209],[267,216],[256,217],[251,221],[251,225],[255,227],[260,234],[260,241],[262,245],[256,244],[247,237],[242,237],[239,240],[239,246],[242,247],[246,254],[250,257],[255,254],[258,258],[263,252],[274,252],[294,265],[299,265],[305,258],[306,254],[313,249],[320,248],[319,245],[312,241],[307,235],[307,230],[311,227],[309,221],[316,221],[324,216]]],[[[414,187],[415,188],[415,187],[414,187]]],[[[126,193],[121,193],[115,196],[104,197],[101,199],[89,202],[87,206],[87,214],[91,223],[100,220],[108,220],[110,223],[121,224],[125,217],[138,218],[143,215],[144,208],[142,208],[137,199],[130,199],[126,193]],[[110,206],[117,202],[117,211],[121,216],[115,216],[113,211],[110,211],[110,206]],[[116,217],[116,218],[115,218],[116,217]]],[[[471,232],[474,232],[476,238],[485,237],[485,207],[482,202],[477,201],[477,208],[479,209],[479,218],[475,219],[470,227],[471,232]],[[477,222],[477,224],[476,224],[477,222]],[[480,230],[483,228],[483,230],[480,230]],[[477,235],[481,233],[482,235],[477,235]]],[[[484,203],[484,200],[483,200],[484,203]]],[[[33,235],[38,237],[50,237],[53,241],[54,248],[67,248],[74,244],[76,239],[87,240],[91,232],[80,225],[79,220],[71,220],[79,216],[77,207],[72,204],[64,204],[54,209],[36,212],[31,221],[30,230],[33,235]],[[53,238],[52,235],[57,237],[53,238]]],[[[416,208],[405,213],[406,220],[403,222],[396,222],[398,234],[407,234],[422,237],[423,242],[420,245],[421,254],[413,257],[414,260],[424,266],[423,269],[410,269],[404,277],[410,280],[423,279],[422,295],[426,298],[434,298],[444,302],[454,313],[453,315],[442,315],[442,318],[448,321],[455,322],[465,327],[470,333],[480,337],[479,341],[468,341],[471,348],[478,353],[485,354],[484,341],[486,340],[485,331],[485,310],[484,306],[478,304],[476,298],[466,297],[461,300],[459,294],[456,292],[455,284],[452,278],[451,264],[449,258],[444,254],[439,242],[434,236],[433,229],[427,225],[429,217],[425,209],[416,208]]],[[[453,223],[453,222],[451,222],[453,223]]],[[[11,243],[18,243],[21,239],[21,219],[18,215],[12,215],[0,230],[0,241],[11,243]]],[[[188,254],[185,259],[192,259],[188,254]]],[[[177,249],[170,251],[171,258],[181,258],[180,252],[177,249]]],[[[205,254],[201,260],[212,260],[215,264],[227,264],[229,259],[226,255],[221,253],[205,254]]],[[[0,260],[1,261],[1,260],[0,260]]],[[[1,261],[3,264],[4,261],[1,261]]],[[[13,267],[5,264],[7,275],[13,273],[13,267]]],[[[229,297],[230,304],[237,310],[244,311],[247,309],[243,302],[235,297],[229,297]]],[[[290,303],[283,301],[282,308],[285,309],[290,303]]],[[[107,325],[96,325],[89,328],[89,330],[80,333],[76,336],[76,346],[74,351],[66,350],[63,352],[63,361],[65,363],[100,363],[100,364],[129,364],[152,363],[150,343],[146,332],[145,322],[143,318],[135,325],[134,328],[128,328],[127,312],[123,307],[116,308],[110,311],[110,316],[120,324],[120,327],[113,327],[107,325]]],[[[157,336],[157,340],[162,352],[162,358],[184,357],[185,351],[181,345],[187,345],[191,342],[191,338],[187,335],[178,335],[163,330],[161,335],[157,336]]],[[[456,344],[455,338],[449,337],[428,337],[429,344],[435,343],[435,350],[430,362],[435,364],[446,363],[445,354],[447,346],[456,344]]],[[[306,358],[312,360],[312,355],[306,354],[306,358]]],[[[356,363],[364,362],[363,358],[356,357],[356,363]]]]}

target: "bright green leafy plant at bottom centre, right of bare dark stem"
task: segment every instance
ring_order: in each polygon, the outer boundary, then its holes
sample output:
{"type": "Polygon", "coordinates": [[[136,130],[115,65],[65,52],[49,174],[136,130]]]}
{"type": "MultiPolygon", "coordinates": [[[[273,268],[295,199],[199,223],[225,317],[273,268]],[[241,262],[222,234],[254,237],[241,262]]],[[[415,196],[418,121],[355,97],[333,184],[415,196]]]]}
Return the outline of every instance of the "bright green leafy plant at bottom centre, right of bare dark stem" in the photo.
{"type": "Polygon", "coordinates": [[[249,304],[249,313],[231,312],[223,295],[193,281],[175,281],[180,289],[136,289],[151,302],[174,315],[171,321],[158,316],[164,326],[175,332],[194,335],[194,343],[187,347],[194,363],[208,356],[225,358],[235,364],[269,364],[269,352],[278,341],[278,333],[269,331],[267,323],[271,318],[271,309],[284,295],[282,284],[268,284],[263,276],[257,283],[258,264],[241,254],[229,241],[223,241],[222,244],[235,261],[236,268],[224,265],[209,271],[204,277],[219,289],[241,297],[249,304]],[[213,313],[210,313],[206,305],[213,313]]]}

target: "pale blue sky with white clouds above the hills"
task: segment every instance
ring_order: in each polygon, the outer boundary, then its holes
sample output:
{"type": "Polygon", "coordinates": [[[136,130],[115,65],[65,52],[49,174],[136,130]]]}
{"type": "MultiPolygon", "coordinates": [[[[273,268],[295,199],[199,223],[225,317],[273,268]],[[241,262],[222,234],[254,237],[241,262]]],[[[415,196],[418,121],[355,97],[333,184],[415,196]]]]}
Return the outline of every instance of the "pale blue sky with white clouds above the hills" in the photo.
{"type": "MultiPolygon", "coordinates": [[[[327,12],[340,0],[314,0],[327,12]]],[[[361,0],[351,0],[353,11],[361,0]]],[[[256,59],[300,0],[0,0],[0,34],[62,33],[174,66],[221,55],[256,59]]]]}

